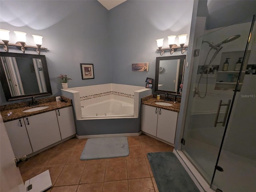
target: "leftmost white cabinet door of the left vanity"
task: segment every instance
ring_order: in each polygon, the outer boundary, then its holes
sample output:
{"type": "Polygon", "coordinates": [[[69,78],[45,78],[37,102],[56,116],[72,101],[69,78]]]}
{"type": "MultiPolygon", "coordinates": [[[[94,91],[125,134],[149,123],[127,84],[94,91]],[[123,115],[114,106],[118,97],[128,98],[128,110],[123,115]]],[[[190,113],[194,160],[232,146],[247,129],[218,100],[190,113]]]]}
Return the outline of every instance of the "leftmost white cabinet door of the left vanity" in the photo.
{"type": "Polygon", "coordinates": [[[33,153],[23,119],[8,121],[4,123],[4,126],[17,159],[33,153]]]}

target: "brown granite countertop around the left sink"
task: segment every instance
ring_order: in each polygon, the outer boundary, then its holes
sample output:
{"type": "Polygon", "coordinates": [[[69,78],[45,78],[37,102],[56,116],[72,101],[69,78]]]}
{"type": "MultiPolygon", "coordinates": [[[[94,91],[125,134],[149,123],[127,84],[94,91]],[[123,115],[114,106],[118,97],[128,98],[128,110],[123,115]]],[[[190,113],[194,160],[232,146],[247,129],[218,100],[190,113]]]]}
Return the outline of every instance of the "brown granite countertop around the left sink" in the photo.
{"type": "Polygon", "coordinates": [[[3,121],[7,122],[7,121],[26,118],[29,116],[34,116],[37,114],[42,114],[45,112],[72,106],[72,100],[70,100],[69,98],[61,96],[61,99],[65,100],[66,102],[61,102],[61,101],[56,102],[55,97],[52,97],[52,98],[44,98],[41,100],[40,99],[36,100],[38,102],[38,105],[36,106],[29,106],[29,102],[20,102],[16,104],[0,106],[1,116],[3,118],[3,121]],[[35,112],[26,112],[26,113],[23,112],[24,110],[41,107],[41,106],[49,106],[49,107],[43,110],[35,111],[35,112]]]}

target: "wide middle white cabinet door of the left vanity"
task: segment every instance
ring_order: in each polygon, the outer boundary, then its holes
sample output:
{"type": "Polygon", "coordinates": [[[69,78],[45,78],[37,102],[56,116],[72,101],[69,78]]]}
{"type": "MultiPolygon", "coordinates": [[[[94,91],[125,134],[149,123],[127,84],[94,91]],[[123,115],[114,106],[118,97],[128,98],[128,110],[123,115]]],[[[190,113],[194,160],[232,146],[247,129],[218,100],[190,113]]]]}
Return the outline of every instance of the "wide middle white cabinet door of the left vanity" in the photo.
{"type": "Polygon", "coordinates": [[[55,110],[24,118],[24,121],[34,152],[61,140],[55,110]]]}

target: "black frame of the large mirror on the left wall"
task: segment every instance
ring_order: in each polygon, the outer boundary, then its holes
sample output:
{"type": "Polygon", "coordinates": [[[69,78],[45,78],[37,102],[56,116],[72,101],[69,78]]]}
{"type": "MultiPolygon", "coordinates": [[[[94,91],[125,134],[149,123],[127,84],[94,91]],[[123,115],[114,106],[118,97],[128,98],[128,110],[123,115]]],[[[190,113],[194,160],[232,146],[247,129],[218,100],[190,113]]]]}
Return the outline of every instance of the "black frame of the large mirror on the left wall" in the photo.
{"type": "Polygon", "coordinates": [[[26,98],[31,98],[32,96],[33,97],[38,97],[38,96],[52,95],[52,88],[51,88],[51,84],[50,84],[50,78],[49,78],[49,74],[48,74],[48,68],[47,68],[47,64],[46,64],[45,55],[32,55],[32,54],[24,54],[24,53],[0,52],[0,56],[1,57],[20,57],[20,58],[41,59],[42,60],[42,67],[43,67],[43,71],[44,71],[44,80],[45,80],[46,90],[47,90],[47,92],[43,92],[43,93],[12,96],[11,92],[10,92],[10,89],[9,89],[9,86],[8,86],[6,74],[4,72],[2,59],[0,59],[0,63],[1,63],[1,65],[0,65],[0,80],[1,80],[1,83],[2,83],[2,88],[4,90],[4,95],[5,95],[6,101],[26,99],[26,98]]]}

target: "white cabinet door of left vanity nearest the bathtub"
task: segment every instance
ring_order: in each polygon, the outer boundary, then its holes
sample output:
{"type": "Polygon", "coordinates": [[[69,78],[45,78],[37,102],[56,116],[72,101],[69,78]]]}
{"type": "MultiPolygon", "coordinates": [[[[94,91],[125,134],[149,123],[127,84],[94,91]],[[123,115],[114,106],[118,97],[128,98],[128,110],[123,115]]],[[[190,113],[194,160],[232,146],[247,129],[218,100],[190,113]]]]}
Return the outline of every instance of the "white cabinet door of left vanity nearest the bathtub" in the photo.
{"type": "Polygon", "coordinates": [[[56,110],[60,126],[61,139],[76,134],[72,106],[56,110]]]}

